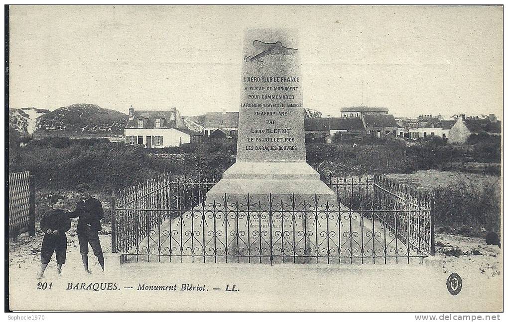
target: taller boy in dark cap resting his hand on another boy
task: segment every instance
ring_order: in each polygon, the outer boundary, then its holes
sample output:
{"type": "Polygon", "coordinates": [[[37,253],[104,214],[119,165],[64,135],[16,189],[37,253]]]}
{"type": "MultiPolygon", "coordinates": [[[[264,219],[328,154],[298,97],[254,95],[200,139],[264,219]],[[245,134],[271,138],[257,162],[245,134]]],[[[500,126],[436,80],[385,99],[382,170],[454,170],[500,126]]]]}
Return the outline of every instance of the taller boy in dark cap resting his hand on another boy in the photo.
{"type": "Polygon", "coordinates": [[[100,220],[104,218],[102,204],[99,200],[90,196],[88,184],[78,184],[76,190],[78,190],[80,200],[76,204],[76,209],[69,212],[68,215],[71,218],[79,217],[76,232],[83,266],[85,271],[90,274],[91,271],[88,269],[88,244],[90,244],[93,254],[97,256],[104,271],[104,255],[99,240],[99,231],[102,229],[100,220]]]}

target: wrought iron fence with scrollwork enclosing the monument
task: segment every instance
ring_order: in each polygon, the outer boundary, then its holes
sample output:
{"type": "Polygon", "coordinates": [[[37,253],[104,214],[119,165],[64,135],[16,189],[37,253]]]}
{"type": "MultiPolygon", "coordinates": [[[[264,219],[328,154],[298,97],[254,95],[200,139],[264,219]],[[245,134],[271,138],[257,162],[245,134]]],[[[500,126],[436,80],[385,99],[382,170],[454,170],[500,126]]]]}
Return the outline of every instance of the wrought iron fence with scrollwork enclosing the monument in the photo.
{"type": "Polygon", "coordinates": [[[333,177],[336,204],[206,203],[218,177],[161,177],[119,192],[112,251],[123,260],[421,263],[433,254],[430,194],[382,176],[333,177]]]}

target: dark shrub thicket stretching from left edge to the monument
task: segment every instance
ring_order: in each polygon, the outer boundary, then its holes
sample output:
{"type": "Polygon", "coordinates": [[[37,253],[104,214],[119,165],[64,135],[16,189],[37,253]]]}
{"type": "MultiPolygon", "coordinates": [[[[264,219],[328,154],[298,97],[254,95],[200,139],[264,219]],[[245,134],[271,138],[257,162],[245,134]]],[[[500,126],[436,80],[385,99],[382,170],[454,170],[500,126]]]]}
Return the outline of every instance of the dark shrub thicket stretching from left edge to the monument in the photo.
{"type": "Polygon", "coordinates": [[[10,149],[11,172],[29,170],[37,189],[73,189],[88,182],[97,191],[108,191],[138,184],[164,173],[220,174],[234,163],[231,143],[188,144],[168,148],[183,153],[177,158],[150,156],[139,145],[110,143],[107,139],[50,138],[32,140],[26,146],[10,149]]]}

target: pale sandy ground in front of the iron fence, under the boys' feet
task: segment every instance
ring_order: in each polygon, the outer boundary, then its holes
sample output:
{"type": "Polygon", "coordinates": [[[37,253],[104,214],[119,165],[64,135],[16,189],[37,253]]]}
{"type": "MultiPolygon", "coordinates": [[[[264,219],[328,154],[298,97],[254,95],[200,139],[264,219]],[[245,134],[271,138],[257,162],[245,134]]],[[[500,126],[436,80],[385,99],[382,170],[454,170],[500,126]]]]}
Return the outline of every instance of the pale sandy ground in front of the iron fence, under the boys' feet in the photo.
{"type": "MultiPolygon", "coordinates": [[[[105,253],[110,236],[100,235],[105,253]]],[[[327,265],[236,263],[127,263],[107,253],[106,272],[90,254],[93,275],[83,272],[76,236],[69,236],[67,263],[56,278],[54,262],[45,279],[39,268],[42,236],[12,242],[9,295],[13,310],[158,311],[499,311],[502,309],[500,249],[480,239],[438,235],[440,253],[450,247],[478,249],[478,255],[444,257],[443,268],[425,265],[327,265]],[[483,243],[483,244],[482,244],[483,243]],[[468,248],[469,247],[469,248],[468,248]],[[494,256],[495,255],[495,256],[494,256]],[[497,269],[496,269],[497,265],[497,269]],[[483,272],[482,272],[483,270],[483,272]],[[450,272],[463,279],[462,291],[449,294],[450,272]],[[494,272],[494,274],[493,274],[494,272]],[[39,289],[38,283],[52,283],[39,289]],[[71,284],[70,284],[71,283],[71,284]],[[111,283],[108,285],[108,283],[111,283]],[[188,286],[203,291],[182,291],[188,286]],[[78,288],[73,289],[78,285],[78,288]],[[145,285],[145,289],[143,288],[145,285]],[[146,290],[167,285],[175,291],[146,290]],[[238,292],[226,291],[235,285],[238,292]],[[86,289],[90,287],[90,289],[86,289]],[[98,291],[93,291],[93,287],[98,291]],[[101,290],[100,288],[105,288],[101,290]],[[107,288],[111,289],[107,289],[107,288]],[[70,289],[68,289],[70,288],[70,289]],[[217,289],[214,289],[217,288],[217,289]]],[[[54,260],[54,259],[53,259],[54,260]]]]}

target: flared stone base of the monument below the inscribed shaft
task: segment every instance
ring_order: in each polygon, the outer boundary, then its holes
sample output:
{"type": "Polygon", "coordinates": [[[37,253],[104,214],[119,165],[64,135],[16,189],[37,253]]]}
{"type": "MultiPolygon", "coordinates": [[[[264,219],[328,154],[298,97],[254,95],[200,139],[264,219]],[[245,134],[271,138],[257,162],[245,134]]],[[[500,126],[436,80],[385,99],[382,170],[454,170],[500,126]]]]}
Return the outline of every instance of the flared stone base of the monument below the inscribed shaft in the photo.
{"type": "Polygon", "coordinates": [[[319,205],[337,204],[336,193],[320,180],[319,173],[306,162],[237,162],[226,170],[223,179],[207,193],[206,203],[245,204],[247,194],[252,203],[266,204],[270,194],[274,203],[291,205],[305,201],[313,205],[317,197],[319,205]]]}

